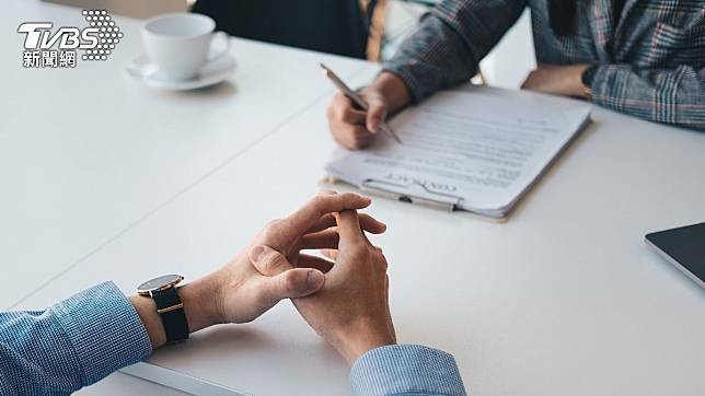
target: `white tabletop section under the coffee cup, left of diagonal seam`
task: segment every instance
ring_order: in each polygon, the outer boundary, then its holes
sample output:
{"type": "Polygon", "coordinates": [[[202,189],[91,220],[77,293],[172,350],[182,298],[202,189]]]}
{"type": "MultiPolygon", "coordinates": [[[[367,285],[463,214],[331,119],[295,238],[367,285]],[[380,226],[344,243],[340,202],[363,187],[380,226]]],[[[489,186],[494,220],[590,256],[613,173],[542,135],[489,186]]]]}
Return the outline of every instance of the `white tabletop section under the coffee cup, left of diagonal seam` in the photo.
{"type": "MultiPolygon", "coordinates": [[[[80,9],[34,0],[3,3],[0,25],[83,26],[80,9]]],[[[16,288],[0,308],[81,263],[162,205],[326,100],[317,62],[350,77],[366,63],[234,39],[239,67],[226,83],[166,92],[131,80],[140,22],[111,58],[76,69],[22,67],[24,35],[0,35],[0,263],[16,288]],[[39,265],[37,265],[39,264],[39,265]]],[[[79,53],[80,55],[80,53],[79,53]]]]}

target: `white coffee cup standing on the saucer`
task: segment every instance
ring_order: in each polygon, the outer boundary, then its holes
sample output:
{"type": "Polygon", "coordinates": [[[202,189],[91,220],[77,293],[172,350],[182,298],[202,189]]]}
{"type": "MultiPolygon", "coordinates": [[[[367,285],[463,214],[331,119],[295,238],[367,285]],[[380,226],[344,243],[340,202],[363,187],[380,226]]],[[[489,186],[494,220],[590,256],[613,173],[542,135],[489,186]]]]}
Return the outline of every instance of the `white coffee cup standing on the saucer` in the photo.
{"type": "Polygon", "coordinates": [[[165,80],[185,81],[196,78],[208,61],[230,51],[230,39],[216,32],[216,22],[206,15],[176,12],[154,16],[142,26],[142,44],[150,59],[165,80]],[[210,54],[211,42],[222,37],[224,50],[210,54]]]}

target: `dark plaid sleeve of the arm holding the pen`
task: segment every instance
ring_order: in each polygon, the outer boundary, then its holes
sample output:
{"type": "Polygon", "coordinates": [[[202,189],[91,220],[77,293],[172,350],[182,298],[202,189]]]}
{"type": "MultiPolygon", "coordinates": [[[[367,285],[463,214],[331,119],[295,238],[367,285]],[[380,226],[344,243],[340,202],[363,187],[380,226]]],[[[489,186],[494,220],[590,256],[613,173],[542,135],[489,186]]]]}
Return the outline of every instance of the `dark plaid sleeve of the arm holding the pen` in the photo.
{"type": "Polygon", "coordinates": [[[444,0],[424,15],[383,70],[406,83],[413,102],[465,82],[525,5],[523,0],[444,0]]]}

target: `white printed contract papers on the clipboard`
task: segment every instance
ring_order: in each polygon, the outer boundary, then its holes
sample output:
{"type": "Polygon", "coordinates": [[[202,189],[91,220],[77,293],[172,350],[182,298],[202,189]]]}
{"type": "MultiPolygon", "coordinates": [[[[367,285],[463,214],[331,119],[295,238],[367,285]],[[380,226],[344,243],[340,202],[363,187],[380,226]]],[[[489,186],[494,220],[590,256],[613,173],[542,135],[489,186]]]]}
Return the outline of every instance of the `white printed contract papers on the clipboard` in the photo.
{"type": "Polygon", "coordinates": [[[373,194],[504,218],[589,119],[585,105],[447,91],[390,123],[403,144],[380,135],[336,153],[326,172],[373,194]]]}

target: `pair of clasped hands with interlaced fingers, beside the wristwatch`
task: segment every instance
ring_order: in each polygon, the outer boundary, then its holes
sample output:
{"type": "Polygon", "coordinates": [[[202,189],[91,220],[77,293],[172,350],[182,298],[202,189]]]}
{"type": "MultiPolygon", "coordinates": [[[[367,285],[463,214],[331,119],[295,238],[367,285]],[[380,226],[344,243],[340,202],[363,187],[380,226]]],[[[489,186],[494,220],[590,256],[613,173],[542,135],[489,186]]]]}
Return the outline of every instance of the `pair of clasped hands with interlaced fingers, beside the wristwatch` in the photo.
{"type": "Polygon", "coordinates": [[[184,287],[203,291],[194,304],[203,311],[186,313],[192,331],[251,322],[292,299],[309,325],[349,363],[395,343],[386,259],[365,235],[386,226],[357,212],[370,203],[355,194],[323,191],[270,222],[224,267],[184,287]],[[321,249],[331,260],[303,254],[307,249],[321,249]]]}

